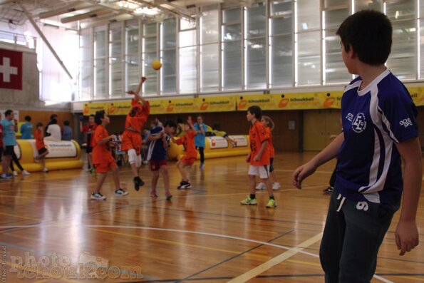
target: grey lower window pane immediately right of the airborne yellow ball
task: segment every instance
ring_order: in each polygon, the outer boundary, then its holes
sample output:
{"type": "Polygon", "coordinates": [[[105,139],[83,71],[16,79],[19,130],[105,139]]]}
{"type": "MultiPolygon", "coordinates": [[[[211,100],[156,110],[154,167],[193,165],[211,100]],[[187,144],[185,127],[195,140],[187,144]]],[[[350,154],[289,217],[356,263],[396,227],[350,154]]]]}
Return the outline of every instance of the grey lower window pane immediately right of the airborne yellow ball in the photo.
{"type": "Polygon", "coordinates": [[[177,93],[177,52],[175,49],[164,50],[162,56],[162,93],[175,95],[177,93]]]}

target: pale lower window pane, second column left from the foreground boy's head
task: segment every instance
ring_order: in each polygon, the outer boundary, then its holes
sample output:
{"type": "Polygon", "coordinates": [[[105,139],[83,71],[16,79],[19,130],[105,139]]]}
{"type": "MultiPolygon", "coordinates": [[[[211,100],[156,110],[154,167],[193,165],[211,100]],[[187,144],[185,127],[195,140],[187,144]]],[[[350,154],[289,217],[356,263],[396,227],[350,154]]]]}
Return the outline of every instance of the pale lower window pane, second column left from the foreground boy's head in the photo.
{"type": "Polygon", "coordinates": [[[311,31],[298,34],[298,84],[320,84],[321,83],[321,63],[320,63],[320,36],[319,31],[311,31]]]}

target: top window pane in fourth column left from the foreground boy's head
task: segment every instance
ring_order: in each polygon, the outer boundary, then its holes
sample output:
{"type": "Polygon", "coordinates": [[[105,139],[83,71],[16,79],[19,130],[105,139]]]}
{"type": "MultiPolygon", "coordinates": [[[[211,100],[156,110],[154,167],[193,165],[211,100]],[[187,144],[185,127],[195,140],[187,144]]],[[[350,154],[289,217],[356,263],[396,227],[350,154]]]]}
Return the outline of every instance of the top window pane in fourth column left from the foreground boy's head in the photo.
{"type": "Polygon", "coordinates": [[[265,36],[265,26],[267,23],[265,5],[262,3],[254,4],[252,7],[247,8],[246,14],[246,38],[265,36]]]}

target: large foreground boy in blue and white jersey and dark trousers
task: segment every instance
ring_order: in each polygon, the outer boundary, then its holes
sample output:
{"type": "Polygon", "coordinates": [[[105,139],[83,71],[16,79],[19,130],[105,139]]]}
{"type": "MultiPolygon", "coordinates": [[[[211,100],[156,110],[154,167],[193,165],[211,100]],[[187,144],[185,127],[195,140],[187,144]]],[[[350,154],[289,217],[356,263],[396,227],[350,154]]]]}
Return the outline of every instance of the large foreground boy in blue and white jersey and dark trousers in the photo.
{"type": "Polygon", "coordinates": [[[336,34],[348,72],[358,75],[341,100],[343,133],[297,168],[292,182],[300,189],[319,165],[337,156],[321,265],[326,282],[370,282],[402,192],[395,242],[400,255],[418,245],[415,216],[422,165],[417,110],[403,83],[386,69],[392,27],[384,14],[359,11],[336,34]]]}

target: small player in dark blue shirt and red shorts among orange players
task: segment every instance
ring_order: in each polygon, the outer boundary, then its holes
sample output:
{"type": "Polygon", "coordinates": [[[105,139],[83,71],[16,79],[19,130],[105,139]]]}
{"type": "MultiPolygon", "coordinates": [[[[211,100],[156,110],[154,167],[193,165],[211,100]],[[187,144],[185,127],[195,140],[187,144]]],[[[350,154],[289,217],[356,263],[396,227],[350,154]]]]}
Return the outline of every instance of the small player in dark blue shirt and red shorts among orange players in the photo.
{"type": "Polygon", "coordinates": [[[157,180],[159,180],[159,171],[162,173],[163,182],[165,185],[165,197],[170,200],[172,195],[170,193],[170,175],[167,169],[167,150],[170,146],[170,135],[175,133],[175,125],[172,121],[166,121],[163,128],[156,126],[150,130],[148,136],[149,147],[148,147],[148,160],[149,167],[152,171],[152,191],[150,197],[157,197],[156,186],[157,180]]]}

